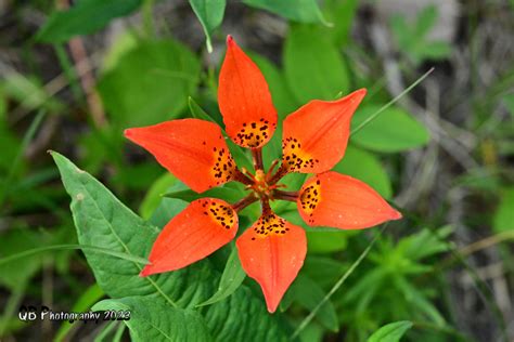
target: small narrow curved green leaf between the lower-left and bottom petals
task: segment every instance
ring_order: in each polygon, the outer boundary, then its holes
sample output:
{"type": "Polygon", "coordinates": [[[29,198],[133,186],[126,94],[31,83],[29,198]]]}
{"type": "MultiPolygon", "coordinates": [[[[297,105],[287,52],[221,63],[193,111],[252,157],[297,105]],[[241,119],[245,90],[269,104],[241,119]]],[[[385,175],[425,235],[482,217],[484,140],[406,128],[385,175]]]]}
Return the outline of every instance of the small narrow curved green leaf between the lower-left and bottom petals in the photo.
{"type": "Polygon", "coordinates": [[[224,300],[227,297],[231,295],[235,290],[237,290],[245,278],[246,273],[241,266],[237,249],[234,247],[230,252],[229,260],[227,261],[223,274],[221,275],[218,291],[216,291],[211,298],[201,304],[197,304],[196,306],[210,305],[224,300]]]}

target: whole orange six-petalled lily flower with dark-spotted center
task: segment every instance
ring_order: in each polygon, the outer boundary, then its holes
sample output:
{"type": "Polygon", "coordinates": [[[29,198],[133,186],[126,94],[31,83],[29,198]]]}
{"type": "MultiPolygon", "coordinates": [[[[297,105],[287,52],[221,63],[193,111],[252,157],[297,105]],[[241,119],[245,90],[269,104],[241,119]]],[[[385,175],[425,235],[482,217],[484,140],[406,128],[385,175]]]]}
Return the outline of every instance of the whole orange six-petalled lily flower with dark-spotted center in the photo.
{"type": "Polygon", "coordinates": [[[337,101],[311,101],[283,122],[283,156],[266,172],[261,148],[277,128],[277,109],[268,83],[232,37],[219,76],[219,107],[226,131],[237,145],[252,150],[255,174],[234,162],[221,129],[198,119],[172,120],[132,128],[125,135],[147,149],[157,161],[197,193],[236,181],[250,194],[236,203],[202,198],[192,201],[164,227],[153,245],[141,276],[185,267],[231,241],[237,212],[260,200],[262,213],[236,240],[241,264],[261,287],[273,313],[304,264],[305,231],[278,216],[272,200],[296,201],[309,226],[361,229],[401,214],[374,189],[348,175],[330,171],[344,156],[350,119],[365,95],[358,90],[337,101]],[[299,192],[279,184],[290,172],[314,173],[299,192]]]}

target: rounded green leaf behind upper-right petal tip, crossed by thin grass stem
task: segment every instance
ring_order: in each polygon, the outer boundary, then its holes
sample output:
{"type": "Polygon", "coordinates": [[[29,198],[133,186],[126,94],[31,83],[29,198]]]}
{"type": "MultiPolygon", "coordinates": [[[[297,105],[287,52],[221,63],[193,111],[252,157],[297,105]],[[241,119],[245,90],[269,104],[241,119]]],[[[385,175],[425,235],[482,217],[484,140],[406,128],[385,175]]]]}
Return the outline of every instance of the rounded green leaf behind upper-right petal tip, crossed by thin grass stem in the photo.
{"type": "MultiPolygon", "coordinates": [[[[356,128],[380,109],[369,105],[359,109],[351,120],[356,128]]],[[[351,135],[351,142],[362,147],[396,153],[426,145],[429,141],[428,131],[409,114],[397,107],[385,109],[360,131],[351,135]]]]}

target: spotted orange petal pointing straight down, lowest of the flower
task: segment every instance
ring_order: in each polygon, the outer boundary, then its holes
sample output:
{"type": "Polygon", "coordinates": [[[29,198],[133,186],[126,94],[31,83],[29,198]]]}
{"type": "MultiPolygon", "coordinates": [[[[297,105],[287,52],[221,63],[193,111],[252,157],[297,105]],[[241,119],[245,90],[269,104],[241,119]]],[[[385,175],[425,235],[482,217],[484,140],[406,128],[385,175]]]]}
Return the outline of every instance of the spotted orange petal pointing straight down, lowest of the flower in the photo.
{"type": "Polygon", "coordinates": [[[237,238],[236,246],[244,271],[260,285],[273,313],[304,265],[304,229],[274,213],[264,214],[237,238]]]}

